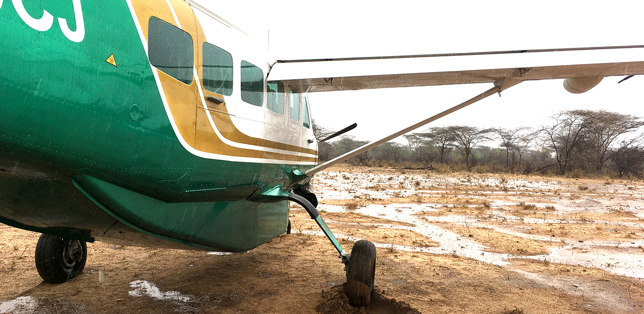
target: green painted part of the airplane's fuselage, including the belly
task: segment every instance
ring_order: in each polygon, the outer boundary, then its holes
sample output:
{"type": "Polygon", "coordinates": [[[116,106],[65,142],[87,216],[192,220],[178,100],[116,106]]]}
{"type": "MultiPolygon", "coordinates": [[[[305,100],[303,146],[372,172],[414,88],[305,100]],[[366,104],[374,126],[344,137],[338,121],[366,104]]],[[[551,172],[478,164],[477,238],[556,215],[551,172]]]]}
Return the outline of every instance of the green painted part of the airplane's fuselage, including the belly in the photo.
{"type": "Polygon", "coordinates": [[[54,21],[37,31],[12,1],[0,6],[0,222],[80,240],[231,252],[285,231],[288,202],[258,192],[290,187],[297,164],[188,152],[126,1],[83,1],[81,42],[55,18],[77,30],[71,0],[27,2],[32,17],[45,8],[54,21]],[[106,62],[113,54],[117,66],[106,62]]]}

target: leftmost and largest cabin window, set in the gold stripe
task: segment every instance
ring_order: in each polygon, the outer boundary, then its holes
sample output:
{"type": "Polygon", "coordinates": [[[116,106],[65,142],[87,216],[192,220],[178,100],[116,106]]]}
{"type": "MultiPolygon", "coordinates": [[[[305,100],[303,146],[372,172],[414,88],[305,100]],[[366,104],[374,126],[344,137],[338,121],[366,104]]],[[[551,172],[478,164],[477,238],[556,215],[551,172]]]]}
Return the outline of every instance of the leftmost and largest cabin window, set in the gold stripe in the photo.
{"type": "Polygon", "coordinates": [[[193,82],[193,37],[189,33],[150,17],[147,42],[150,64],[181,82],[193,82]]]}

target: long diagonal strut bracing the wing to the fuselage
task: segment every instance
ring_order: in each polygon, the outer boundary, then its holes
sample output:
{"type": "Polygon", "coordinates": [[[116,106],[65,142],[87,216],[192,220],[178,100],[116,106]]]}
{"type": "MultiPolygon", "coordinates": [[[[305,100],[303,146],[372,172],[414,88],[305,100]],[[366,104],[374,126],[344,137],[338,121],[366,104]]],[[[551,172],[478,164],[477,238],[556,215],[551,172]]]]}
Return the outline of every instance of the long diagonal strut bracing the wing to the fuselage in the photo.
{"type": "Polygon", "coordinates": [[[482,100],[483,98],[486,98],[490,95],[496,94],[497,92],[504,91],[518,83],[521,83],[522,81],[519,80],[518,78],[502,78],[501,80],[498,80],[497,82],[494,83],[494,87],[491,89],[488,89],[487,91],[483,92],[482,94],[479,94],[478,96],[475,96],[474,98],[471,98],[468,101],[465,101],[464,103],[460,103],[460,105],[451,107],[448,110],[445,110],[443,112],[440,112],[440,114],[437,114],[435,116],[432,116],[431,118],[424,119],[419,123],[416,123],[415,125],[408,126],[407,128],[404,128],[403,130],[400,130],[398,132],[395,132],[392,135],[389,135],[387,137],[384,137],[383,139],[379,139],[378,141],[372,142],[365,144],[363,146],[360,146],[359,148],[355,148],[355,150],[352,150],[351,152],[345,153],[344,155],[339,155],[338,157],[331,159],[330,161],[327,161],[323,164],[319,164],[314,168],[311,168],[310,170],[305,172],[305,175],[307,176],[312,176],[315,173],[325,170],[329,168],[330,166],[333,166],[335,164],[339,164],[340,162],[346,161],[346,159],[350,159],[351,157],[354,157],[355,155],[359,155],[360,153],[366,152],[367,150],[370,150],[372,148],[375,148],[376,146],[379,146],[380,144],[387,143],[388,141],[391,141],[392,139],[395,139],[396,137],[399,137],[400,135],[406,134],[408,132],[411,132],[417,128],[420,128],[423,125],[426,125],[430,123],[431,121],[435,121],[437,119],[440,119],[444,116],[447,116],[448,114],[451,114],[452,112],[455,112],[456,110],[462,109],[467,107],[468,105],[471,105],[479,100],[482,100]]]}

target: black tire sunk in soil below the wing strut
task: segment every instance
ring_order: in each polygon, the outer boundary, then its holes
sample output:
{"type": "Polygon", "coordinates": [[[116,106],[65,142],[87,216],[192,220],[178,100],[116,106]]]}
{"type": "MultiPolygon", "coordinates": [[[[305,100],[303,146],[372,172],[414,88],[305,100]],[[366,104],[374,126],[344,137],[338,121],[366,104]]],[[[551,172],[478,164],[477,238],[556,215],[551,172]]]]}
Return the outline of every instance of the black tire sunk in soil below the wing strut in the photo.
{"type": "Polygon", "coordinates": [[[367,240],[355,242],[346,266],[345,293],[355,307],[368,306],[374,294],[375,245],[367,240]]]}

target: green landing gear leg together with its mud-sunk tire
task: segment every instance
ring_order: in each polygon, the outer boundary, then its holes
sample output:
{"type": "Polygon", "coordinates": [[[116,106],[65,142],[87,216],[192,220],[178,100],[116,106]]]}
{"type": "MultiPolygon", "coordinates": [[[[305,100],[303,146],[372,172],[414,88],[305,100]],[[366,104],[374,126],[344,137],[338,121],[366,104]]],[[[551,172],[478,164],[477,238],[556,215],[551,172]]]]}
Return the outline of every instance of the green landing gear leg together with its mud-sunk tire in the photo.
{"type": "Polygon", "coordinates": [[[346,285],[345,292],[352,306],[368,306],[374,294],[375,277],[375,245],[367,240],[355,242],[349,255],[342,249],[340,243],[324,222],[316,207],[306,198],[295,193],[290,193],[289,200],[298,203],[307,210],[311,219],[315,220],[322,232],[331,241],[340,254],[342,263],[345,264],[346,285]]]}

